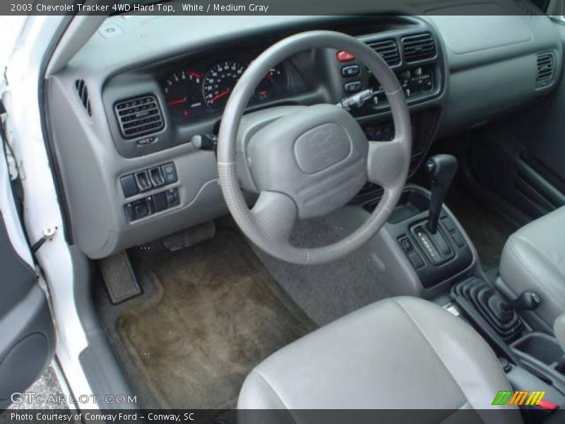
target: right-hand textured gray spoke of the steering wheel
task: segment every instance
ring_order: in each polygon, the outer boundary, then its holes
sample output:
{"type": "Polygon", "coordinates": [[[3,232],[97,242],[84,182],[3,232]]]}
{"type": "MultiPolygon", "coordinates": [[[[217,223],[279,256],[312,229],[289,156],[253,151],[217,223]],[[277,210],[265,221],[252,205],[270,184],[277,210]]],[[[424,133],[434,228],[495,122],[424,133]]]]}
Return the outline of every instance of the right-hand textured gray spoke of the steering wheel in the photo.
{"type": "Polygon", "coordinates": [[[410,164],[410,149],[406,143],[395,138],[392,141],[369,141],[367,177],[369,182],[385,189],[403,182],[410,164]]]}

